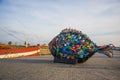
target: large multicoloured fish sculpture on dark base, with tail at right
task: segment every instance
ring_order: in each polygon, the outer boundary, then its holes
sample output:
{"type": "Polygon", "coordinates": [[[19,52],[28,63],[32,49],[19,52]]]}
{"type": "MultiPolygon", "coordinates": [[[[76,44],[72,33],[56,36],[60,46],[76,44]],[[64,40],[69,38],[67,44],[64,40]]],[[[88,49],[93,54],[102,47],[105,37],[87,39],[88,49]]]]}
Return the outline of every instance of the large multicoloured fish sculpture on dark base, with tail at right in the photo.
{"type": "Polygon", "coordinates": [[[112,57],[114,45],[97,46],[86,34],[76,29],[64,29],[49,43],[54,62],[76,64],[87,61],[96,52],[112,57]]]}

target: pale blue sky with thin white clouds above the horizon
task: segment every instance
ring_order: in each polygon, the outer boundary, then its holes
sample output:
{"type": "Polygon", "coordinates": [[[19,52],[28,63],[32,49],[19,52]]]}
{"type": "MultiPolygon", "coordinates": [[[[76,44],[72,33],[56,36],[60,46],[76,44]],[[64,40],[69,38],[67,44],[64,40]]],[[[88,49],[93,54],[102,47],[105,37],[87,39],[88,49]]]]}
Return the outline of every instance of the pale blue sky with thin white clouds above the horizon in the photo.
{"type": "Polygon", "coordinates": [[[120,0],[0,0],[0,42],[49,43],[64,28],[120,45],[120,0]]]}

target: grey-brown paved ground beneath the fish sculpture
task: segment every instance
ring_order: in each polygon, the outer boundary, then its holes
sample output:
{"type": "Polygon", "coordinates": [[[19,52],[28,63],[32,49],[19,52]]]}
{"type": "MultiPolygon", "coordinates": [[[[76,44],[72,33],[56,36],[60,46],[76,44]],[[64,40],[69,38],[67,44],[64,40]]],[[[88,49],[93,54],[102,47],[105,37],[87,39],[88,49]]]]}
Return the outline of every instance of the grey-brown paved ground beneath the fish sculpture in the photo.
{"type": "Polygon", "coordinates": [[[0,80],[120,80],[120,52],[114,58],[95,54],[76,65],[53,63],[50,55],[1,59],[0,80]]]}

